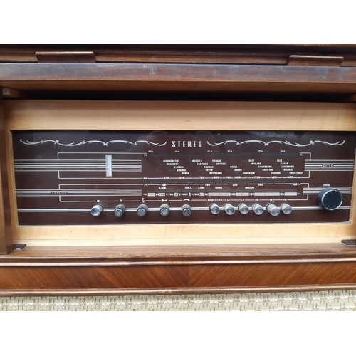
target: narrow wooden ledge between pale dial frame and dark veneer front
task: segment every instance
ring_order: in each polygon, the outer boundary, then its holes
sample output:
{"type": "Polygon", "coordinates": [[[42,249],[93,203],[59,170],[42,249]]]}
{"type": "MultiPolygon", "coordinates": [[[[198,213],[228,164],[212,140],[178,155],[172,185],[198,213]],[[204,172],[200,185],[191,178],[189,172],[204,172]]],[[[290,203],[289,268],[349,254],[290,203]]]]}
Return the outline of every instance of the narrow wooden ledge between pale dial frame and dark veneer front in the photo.
{"type": "Polygon", "coordinates": [[[9,256],[0,256],[0,261],[51,261],[89,260],[116,258],[133,259],[241,259],[241,258],[333,258],[355,257],[356,248],[343,244],[258,244],[258,245],[192,245],[188,246],[97,246],[97,247],[27,247],[14,251],[9,256]]]}

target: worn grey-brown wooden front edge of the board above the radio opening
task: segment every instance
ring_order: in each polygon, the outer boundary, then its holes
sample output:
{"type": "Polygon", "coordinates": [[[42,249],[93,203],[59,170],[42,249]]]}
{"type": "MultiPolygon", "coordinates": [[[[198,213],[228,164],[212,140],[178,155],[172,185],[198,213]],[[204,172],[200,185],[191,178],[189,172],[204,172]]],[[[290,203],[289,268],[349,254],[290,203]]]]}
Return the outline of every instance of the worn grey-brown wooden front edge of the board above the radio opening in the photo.
{"type": "Polygon", "coordinates": [[[356,68],[166,63],[0,63],[1,81],[355,84],[356,68]]]}

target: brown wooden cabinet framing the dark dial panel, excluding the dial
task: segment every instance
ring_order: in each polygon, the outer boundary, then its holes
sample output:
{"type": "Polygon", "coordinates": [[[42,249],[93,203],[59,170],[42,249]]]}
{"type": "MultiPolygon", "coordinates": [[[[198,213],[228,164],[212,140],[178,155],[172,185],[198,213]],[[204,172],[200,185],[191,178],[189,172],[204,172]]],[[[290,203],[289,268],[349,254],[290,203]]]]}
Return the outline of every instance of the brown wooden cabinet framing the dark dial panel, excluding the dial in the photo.
{"type": "Polygon", "coordinates": [[[355,46],[65,49],[0,46],[1,295],[356,288],[355,179],[342,222],[214,224],[206,215],[194,224],[32,226],[18,220],[11,141],[14,130],[354,137],[355,46]]]}

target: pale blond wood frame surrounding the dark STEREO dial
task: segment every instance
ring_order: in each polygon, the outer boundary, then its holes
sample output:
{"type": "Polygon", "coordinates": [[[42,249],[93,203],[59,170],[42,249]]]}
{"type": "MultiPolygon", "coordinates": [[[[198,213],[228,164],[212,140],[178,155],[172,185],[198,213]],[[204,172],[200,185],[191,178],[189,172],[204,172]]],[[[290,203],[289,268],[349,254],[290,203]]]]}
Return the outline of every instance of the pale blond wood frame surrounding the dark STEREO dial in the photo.
{"type": "MultiPolygon", "coordinates": [[[[17,226],[11,130],[303,130],[356,132],[352,103],[12,100],[4,103],[12,233],[28,246],[332,243],[356,236],[338,224],[17,226]],[[117,237],[120,236],[120,237],[117,237]]],[[[354,179],[353,186],[355,187],[354,179]]]]}

